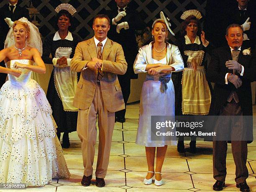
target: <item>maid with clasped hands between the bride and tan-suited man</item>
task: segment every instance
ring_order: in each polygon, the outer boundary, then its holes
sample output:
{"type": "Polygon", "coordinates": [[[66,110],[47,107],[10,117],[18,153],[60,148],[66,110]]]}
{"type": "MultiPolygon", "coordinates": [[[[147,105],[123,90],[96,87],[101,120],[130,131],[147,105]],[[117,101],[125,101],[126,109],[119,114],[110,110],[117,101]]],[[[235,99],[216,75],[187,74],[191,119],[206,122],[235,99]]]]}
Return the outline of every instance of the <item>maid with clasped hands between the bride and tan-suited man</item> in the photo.
{"type": "Polygon", "coordinates": [[[72,15],[76,12],[72,5],[63,3],[55,11],[56,33],[48,35],[43,44],[43,60],[45,63],[53,64],[47,90],[47,99],[52,107],[52,115],[58,126],[57,136],[60,139],[61,132],[62,147],[69,148],[69,133],[77,130],[77,111],[72,106],[74,93],[77,87],[77,73],[70,70],[70,62],[80,38],[69,30],[72,30],[72,15]],[[50,58],[49,56],[52,56],[50,58]]]}

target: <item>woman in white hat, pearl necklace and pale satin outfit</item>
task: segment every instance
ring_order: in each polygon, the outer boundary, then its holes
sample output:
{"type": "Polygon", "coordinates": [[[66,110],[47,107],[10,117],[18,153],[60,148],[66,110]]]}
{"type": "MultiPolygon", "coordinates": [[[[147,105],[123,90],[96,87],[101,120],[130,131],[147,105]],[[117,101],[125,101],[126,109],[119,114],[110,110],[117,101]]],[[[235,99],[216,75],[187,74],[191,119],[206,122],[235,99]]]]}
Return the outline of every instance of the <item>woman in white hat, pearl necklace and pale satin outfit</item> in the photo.
{"type": "Polygon", "coordinates": [[[172,72],[181,71],[184,68],[178,47],[166,42],[168,30],[172,34],[173,32],[162,12],[160,16],[161,19],[156,19],[152,25],[154,41],[139,49],[133,66],[135,73],[147,73],[141,91],[136,144],[146,148],[148,174],[144,184],[151,184],[155,174],[154,184],[157,186],[163,184],[161,169],[167,145],[176,144],[176,138],[168,137],[169,139],[161,141],[151,139],[151,116],[162,116],[161,119],[163,116],[174,117],[175,93],[171,76],[172,72]],[[155,152],[156,169],[154,169],[155,152]]]}

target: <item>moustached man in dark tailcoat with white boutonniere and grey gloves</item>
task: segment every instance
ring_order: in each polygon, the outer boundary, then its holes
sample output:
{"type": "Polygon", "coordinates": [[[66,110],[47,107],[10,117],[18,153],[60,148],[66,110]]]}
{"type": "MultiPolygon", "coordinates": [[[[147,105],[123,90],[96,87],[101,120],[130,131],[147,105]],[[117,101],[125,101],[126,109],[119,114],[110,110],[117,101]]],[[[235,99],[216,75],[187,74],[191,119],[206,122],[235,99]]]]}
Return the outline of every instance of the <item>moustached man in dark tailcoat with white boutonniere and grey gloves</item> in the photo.
{"type": "Polygon", "coordinates": [[[228,46],[212,52],[206,73],[207,80],[215,83],[210,115],[218,116],[214,129],[224,138],[213,139],[213,177],[216,180],[213,189],[220,191],[225,187],[227,138],[230,138],[236,164],[236,187],[249,191],[246,159],[247,142],[253,140],[251,82],[256,81],[256,56],[242,45],[241,25],[229,25],[225,38],[228,46]],[[221,118],[225,118],[224,121],[221,118]]]}

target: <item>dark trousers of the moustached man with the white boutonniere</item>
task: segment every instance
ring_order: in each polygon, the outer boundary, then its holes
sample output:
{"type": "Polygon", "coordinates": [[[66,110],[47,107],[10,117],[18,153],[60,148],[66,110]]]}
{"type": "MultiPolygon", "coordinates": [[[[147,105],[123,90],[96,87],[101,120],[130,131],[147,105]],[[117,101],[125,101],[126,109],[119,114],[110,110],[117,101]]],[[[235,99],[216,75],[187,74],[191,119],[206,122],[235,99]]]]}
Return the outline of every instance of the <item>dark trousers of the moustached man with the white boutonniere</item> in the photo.
{"type": "MultiPolygon", "coordinates": [[[[228,103],[220,111],[220,117],[216,122],[215,131],[220,135],[230,134],[233,159],[236,164],[236,184],[246,182],[248,178],[248,169],[246,167],[247,160],[247,141],[238,141],[237,136],[244,134],[243,130],[243,112],[240,104],[234,100],[228,103]],[[223,121],[223,116],[237,116],[223,121]],[[220,120],[222,119],[222,120],[220,120]],[[230,129],[228,129],[230,128],[230,129]]],[[[227,141],[218,139],[213,141],[213,178],[225,181],[227,174],[226,157],[227,157],[227,141]]]]}

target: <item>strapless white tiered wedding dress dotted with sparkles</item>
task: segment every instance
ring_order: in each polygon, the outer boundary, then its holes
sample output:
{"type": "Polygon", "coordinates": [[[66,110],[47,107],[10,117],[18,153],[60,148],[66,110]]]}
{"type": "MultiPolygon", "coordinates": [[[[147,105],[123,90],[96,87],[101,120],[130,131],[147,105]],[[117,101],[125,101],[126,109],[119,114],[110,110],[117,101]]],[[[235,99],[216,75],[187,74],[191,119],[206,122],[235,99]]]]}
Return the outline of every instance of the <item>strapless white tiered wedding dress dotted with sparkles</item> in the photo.
{"type": "MultiPolygon", "coordinates": [[[[32,65],[31,60],[11,60],[32,65]]],[[[31,71],[20,77],[8,74],[0,90],[0,183],[42,186],[51,179],[69,178],[69,170],[56,136],[56,124],[43,89],[31,79],[31,71]]]]}

